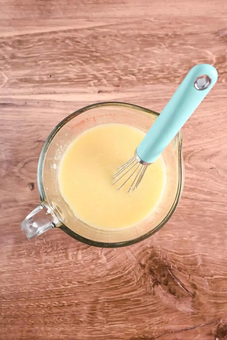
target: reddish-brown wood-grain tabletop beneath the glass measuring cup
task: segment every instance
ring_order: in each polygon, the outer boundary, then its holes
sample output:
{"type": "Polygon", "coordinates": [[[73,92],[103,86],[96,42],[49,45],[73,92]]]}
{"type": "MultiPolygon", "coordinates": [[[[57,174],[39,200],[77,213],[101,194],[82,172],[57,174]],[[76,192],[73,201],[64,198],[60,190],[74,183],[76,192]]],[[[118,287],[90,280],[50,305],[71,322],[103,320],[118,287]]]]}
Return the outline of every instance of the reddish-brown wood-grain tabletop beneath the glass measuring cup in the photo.
{"type": "Polygon", "coordinates": [[[0,339],[227,338],[225,0],[0,0],[0,339]],[[28,241],[48,134],[99,101],[160,111],[186,72],[219,80],[183,128],[185,188],[161,231],[99,249],[28,241]]]}

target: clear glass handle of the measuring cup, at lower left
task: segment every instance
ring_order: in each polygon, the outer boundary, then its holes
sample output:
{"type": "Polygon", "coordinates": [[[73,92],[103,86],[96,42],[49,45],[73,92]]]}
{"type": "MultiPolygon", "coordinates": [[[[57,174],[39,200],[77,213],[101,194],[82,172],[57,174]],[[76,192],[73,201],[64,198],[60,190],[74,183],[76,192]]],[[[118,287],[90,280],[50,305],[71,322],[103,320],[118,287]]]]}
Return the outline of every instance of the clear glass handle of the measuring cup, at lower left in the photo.
{"type": "Polygon", "coordinates": [[[21,229],[28,239],[39,236],[59,224],[59,220],[51,209],[41,203],[21,223],[21,229]]]}

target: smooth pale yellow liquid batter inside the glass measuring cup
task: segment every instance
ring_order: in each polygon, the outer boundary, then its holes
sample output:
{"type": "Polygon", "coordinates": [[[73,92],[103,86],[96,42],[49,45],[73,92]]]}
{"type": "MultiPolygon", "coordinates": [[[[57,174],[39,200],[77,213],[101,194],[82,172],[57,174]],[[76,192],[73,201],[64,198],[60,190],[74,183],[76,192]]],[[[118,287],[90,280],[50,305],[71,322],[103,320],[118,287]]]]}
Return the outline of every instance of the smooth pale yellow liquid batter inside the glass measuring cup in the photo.
{"type": "MultiPolygon", "coordinates": [[[[144,132],[123,124],[95,126],[79,135],[63,155],[59,187],[74,215],[95,228],[117,230],[145,219],[165,186],[161,157],[150,165],[135,191],[113,185],[117,167],[134,155],[144,132]]],[[[131,182],[132,183],[132,182],[131,182]]],[[[130,183],[130,184],[131,184],[130,183]]]]}

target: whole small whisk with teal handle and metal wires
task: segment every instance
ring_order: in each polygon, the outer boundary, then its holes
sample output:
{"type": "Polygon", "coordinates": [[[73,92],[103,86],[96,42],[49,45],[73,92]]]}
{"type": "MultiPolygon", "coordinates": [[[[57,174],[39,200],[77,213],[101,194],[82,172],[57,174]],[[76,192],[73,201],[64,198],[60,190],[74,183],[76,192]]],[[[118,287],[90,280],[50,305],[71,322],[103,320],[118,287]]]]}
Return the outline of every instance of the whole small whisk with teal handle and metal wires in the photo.
{"type": "Polygon", "coordinates": [[[132,180],[128,192],[141,183],[147,167],[154,163],[179,132],[217,81],[217,70],[209,64],[194,66],[164,107],[135,150],[134,156],[118,168],[114,184],[132,180]]]}

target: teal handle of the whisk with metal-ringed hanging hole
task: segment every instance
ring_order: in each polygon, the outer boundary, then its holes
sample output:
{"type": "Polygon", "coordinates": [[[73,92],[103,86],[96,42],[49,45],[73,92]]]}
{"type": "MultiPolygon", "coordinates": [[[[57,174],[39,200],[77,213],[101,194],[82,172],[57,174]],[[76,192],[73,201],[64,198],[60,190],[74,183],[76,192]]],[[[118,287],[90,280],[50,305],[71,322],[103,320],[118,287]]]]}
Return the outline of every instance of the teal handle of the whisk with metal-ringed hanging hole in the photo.
{"type": "Polygon", "coordinates": [[[146,163],[153,163],[193,114],[217,81],[217,70],[208,64],[194,66],[136,149],[146,163]]]}

